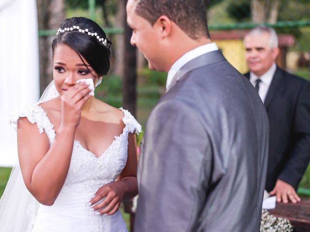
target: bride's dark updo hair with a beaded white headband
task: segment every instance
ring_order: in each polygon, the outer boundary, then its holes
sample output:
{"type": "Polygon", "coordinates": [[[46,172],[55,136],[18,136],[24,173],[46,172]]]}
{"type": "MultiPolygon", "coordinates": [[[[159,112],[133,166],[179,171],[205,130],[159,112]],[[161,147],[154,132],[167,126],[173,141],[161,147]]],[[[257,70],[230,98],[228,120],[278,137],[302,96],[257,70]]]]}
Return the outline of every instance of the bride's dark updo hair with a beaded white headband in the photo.
{"type": "Polygon", "coordinates": [[[84,17],[63,20],[52,42],[53,58],[58,44],[66,44],[75,50],[92,66],[98,77],[109,72],[111,42],[103,29],[93,20],[84,17]]]}

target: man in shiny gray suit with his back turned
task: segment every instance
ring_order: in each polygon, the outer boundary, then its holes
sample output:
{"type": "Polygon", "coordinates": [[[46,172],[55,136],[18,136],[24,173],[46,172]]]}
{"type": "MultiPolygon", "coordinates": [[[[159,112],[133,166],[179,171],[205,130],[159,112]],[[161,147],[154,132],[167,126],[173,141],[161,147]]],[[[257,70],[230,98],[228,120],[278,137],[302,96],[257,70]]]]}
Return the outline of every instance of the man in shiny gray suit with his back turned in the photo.
{"type": "Polygon", "coordinates": [[[259,231],[268,118],[209,38],[204,0],[128,0],[131,43],[168,72],[139,160],[135,232],[259,231]]]}

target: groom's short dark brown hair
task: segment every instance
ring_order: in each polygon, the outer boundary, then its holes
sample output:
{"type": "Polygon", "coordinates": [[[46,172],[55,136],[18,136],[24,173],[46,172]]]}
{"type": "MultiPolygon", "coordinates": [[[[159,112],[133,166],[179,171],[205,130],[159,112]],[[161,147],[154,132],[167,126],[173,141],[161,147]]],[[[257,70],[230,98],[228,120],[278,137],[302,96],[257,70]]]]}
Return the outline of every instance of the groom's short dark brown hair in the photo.
{"type": "Polygon", "coordinates": [[[136,14],[145,18],[152,26],[161,15],[166,15],[190,38],[210,38],[205,0],[136,1],[136,14]]]}

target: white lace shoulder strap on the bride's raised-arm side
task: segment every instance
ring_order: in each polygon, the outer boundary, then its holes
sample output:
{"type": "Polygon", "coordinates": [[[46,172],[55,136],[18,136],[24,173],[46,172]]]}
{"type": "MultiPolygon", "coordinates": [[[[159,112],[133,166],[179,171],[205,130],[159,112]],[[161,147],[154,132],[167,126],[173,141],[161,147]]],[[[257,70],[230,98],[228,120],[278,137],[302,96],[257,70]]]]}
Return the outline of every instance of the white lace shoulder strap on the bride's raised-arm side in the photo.
{"type": "Polygon", "coordinates": [[[11,114],[10,124],[13,126],[15,131],[17,131],[17,121],[20,117],[27,117],[28,121],[32,124],[36,123],[41,134],[44,129],[50,143],[55,138],[53,125],[49,121],[46,112],[41,106],[38,105],[38,103],[29,105],[21,110],[16,110],[11,114]]]}

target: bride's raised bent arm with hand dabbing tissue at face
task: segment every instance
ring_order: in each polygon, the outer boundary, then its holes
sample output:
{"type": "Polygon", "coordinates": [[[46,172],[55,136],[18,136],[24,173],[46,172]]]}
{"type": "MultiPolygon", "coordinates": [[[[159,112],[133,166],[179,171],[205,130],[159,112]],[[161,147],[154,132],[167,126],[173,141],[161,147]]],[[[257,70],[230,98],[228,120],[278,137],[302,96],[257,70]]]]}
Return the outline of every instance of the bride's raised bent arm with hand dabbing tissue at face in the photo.
{"type": "Polygon", "coordinates": [[[17,124],[18,159],[25,185],[45,205],[52,205],[62,189],[81,107],[90,98],[90,95],[83,97],[89,92],[87,85],[74,88],[66,96],[62,95],[62,121],[50,147],[46,133],[40,134],[27,118],[20,118],[17,124]]]}

